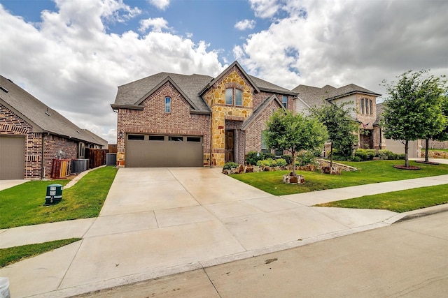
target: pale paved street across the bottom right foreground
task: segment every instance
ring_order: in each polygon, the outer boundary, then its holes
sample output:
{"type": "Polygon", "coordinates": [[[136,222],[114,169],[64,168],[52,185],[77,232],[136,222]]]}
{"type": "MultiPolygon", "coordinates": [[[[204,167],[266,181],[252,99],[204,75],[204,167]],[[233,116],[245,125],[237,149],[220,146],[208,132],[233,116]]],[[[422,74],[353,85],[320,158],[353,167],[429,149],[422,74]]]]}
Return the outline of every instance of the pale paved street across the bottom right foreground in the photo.
{"type": "Polygon", "coordinates": [[[448,212],[77,297],[447,297],[448,212]]]}

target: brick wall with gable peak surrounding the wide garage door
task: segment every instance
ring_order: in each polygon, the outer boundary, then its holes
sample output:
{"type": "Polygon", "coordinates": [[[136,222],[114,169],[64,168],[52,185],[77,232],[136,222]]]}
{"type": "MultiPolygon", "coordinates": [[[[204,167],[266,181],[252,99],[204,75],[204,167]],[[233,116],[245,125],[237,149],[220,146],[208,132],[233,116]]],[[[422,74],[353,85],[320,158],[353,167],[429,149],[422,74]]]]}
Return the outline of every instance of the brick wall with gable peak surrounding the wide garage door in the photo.
{"type": "Polygon", "coordinates": [[[210,151],[210,116],[190,114],[190,103],[167,82],[146,98],[144,110],[118,110],[117,159],[125,158],[126,133],[198,135],[203,137],[204,163],[210,151]],[[165,113],[165,97],[171,98],[171,112],[165,113]],[[120,132],[123,136],[120,137],[120,132]]]}

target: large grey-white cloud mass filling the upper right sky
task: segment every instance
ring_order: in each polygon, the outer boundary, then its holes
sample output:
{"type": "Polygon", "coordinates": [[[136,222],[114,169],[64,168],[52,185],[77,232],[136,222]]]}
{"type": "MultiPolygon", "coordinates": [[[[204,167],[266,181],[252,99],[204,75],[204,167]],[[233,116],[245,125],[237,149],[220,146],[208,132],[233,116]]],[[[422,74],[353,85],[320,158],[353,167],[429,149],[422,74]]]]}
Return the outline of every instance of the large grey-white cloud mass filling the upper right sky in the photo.
{"type": "MultiPolygon", "coordinates": [[[[280,3],[280,2],[279,2],[280,3]]],[[[284,1],[288,17],[251,34],[234,55],[253,75],[286,88],[358,84],[414,69],[448,74],[447,1],[284,1]]]]}

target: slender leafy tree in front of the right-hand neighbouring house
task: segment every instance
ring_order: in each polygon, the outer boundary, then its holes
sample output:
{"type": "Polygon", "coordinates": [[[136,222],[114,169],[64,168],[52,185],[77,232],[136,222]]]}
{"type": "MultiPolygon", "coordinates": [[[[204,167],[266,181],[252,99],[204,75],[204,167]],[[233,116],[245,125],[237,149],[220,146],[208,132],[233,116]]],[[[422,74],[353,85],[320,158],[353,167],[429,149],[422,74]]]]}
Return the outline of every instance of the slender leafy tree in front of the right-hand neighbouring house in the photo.
{"type": "Polygon", "coordinates": [[[345,107],[349,103],[330,103],[311,109],[314,114],[327,128],[328,141],[330,141],[330,167],[332,167],[333,148],[342,156],[350,156],[353,144],[358,142],[356,132],[358,131],[358,122],[356,122],[350,113],[351,108],[345,107]]]}

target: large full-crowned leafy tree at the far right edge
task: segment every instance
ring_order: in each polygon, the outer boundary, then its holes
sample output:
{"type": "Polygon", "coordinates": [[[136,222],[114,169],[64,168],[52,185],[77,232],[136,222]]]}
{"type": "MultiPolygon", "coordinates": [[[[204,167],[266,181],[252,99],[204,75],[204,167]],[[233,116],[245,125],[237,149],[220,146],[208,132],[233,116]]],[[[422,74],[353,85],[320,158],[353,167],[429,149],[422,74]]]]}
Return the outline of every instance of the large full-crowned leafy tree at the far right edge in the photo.
{"type": "Polygon", "coordinates": [[[442,132],[442,80],[427,70],[408,71],[398,82],[383,81],[389,97],[384,101],[384,135],[405,144],[405,167],[409,167],[409,141],[428,139],[442,132]]]}

